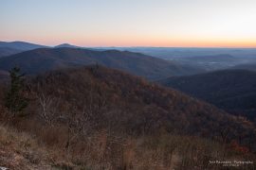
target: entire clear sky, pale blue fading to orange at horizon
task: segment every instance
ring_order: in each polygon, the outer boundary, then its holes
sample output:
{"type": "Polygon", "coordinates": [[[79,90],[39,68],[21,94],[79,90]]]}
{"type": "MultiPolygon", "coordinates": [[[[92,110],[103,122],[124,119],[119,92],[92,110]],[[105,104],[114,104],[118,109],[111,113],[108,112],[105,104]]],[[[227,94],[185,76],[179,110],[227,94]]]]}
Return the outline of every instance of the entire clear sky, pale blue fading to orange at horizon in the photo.
{"type": "Polygon", "coordinates": [[[0,41],[256,47],[256,0],[0,0],[0,41]]]}

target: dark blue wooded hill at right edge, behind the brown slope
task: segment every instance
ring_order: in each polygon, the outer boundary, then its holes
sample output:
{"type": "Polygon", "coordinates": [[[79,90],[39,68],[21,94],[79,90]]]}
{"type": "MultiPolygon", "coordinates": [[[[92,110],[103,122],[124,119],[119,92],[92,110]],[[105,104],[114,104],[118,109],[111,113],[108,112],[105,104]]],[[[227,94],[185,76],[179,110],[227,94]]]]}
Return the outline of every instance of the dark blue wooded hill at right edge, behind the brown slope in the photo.
{"type": "Polygon", "coordinates": [[[196,76],[170,77],[159,81],[230,113],[256,118],[256,73],[224,70],[196,76]]]}

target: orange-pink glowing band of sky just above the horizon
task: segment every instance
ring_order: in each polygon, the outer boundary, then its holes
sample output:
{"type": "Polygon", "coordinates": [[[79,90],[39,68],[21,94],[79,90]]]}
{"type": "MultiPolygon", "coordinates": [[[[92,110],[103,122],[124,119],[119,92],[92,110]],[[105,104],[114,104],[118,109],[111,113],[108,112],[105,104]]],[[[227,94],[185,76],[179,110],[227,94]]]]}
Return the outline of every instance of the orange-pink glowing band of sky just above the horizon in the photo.
{"type": "MultiPolygon", "coordinates": [[[[43,45],[55,46],[61,43],[70,43],[78,46],[88,46],[88,47],[133,47],[133,46],[141,46],[141,47],[227,47],[227,48],[256,48],[256,39],[229,39],[229,40],[220,40],[220,39],[212,39],[212,40],[204,40],[204,39],[196,39],[196,38],[169,38],[163,39],[162,37],[124,37],[120,36],[123,39],[119,38],[109,38],[109,37],[82,37],[76,36],[65,38],[49,38],[50,36],[44,37],[40,40],[33,39],[32,37],[29,39],[20,38],[18,41],[23,42],[32,42],[43,45]]],[[[64,37],[64,36],[62,36],[64,37]]],[[[6,42],[14,42],[16,39],[4,39],[2,41],[6,42]]]]}

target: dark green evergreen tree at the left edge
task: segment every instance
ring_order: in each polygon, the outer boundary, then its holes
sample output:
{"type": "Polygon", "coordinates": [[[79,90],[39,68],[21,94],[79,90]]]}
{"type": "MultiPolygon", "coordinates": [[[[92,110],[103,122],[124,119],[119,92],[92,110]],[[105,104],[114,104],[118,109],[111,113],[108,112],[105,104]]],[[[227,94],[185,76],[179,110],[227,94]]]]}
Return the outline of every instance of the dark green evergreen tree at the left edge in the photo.
{"type": "Polygon", "coordinates": [[[14,67],[9,71],[9,76],[10,86],[6,93],[5,105],[14,116],[22,113],[28,104],[27,98],[23,95],[25,74],[20,73],[20,68],[14,67]]]}

